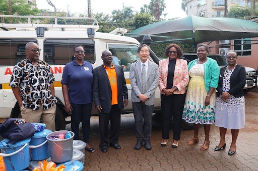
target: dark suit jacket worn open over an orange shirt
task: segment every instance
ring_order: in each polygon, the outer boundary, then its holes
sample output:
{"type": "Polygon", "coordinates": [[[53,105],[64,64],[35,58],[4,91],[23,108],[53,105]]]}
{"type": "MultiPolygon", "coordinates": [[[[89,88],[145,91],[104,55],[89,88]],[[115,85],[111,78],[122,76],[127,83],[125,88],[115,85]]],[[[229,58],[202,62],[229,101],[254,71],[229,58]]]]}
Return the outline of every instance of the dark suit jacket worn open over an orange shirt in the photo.
{"type": "MultiPolygon", "coordinates": [[[[123,69],[115,66],[118,90],[118,108],[123,109],[123,99],[128,99],[126,82],[123,69]]],[[[112,91],[104,65],[92,70],[93,73],[93,100],[95,106],[101,105],[102,113],[109,113],[111,110],[112,91]]]]}

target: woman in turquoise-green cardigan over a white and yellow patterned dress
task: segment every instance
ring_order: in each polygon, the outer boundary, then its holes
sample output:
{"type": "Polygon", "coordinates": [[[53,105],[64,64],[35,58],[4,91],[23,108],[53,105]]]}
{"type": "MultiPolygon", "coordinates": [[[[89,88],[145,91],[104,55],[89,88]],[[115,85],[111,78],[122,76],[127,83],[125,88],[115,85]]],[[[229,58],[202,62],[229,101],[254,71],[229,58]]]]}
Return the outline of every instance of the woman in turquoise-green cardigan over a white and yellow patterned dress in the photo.
{"type": "Polygon", "coordinates": [[[210,128],[215,119],[216,92],[220,69],[217,62],[208,58],[209,47],[200,44],[197,49],[198,59],[188,64],[190,81],[188,84],[182,118],[193,123],[195,134],[187,142],[193,145],[199,142],[199,126],[204,125],[205,140],[201,150],[210,146],[210,128]]]}

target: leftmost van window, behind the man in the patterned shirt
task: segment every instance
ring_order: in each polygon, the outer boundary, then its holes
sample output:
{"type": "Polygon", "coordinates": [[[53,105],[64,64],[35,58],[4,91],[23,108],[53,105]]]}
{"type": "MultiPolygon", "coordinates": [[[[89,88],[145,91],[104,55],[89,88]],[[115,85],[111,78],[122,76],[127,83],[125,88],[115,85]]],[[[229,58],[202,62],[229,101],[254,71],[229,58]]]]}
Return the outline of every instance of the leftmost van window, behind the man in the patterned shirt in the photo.
{"type": "Polygon", "coordinates": [[[0,66],[15,66],[26,58],[25,45],[35,39],[0,39],[0,66]]]}

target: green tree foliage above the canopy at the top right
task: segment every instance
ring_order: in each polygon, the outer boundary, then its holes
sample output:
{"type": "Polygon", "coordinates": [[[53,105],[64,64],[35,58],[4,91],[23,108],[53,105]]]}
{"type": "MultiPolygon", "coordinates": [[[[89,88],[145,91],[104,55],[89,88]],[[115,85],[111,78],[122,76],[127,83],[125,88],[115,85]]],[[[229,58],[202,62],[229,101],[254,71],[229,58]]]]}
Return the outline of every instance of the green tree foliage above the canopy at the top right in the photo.
{"type": "MultiPolygon", "coordinates": [[[[250,7],[239,7],[234,6],[231,7],[229,12],[227,13],[227,17],[229,18],[237,18],[237,19],[249,19],[251,15],[250,7]]],[[[255,9],[255,16],[258,15],[257,9],[255,9]]]]}

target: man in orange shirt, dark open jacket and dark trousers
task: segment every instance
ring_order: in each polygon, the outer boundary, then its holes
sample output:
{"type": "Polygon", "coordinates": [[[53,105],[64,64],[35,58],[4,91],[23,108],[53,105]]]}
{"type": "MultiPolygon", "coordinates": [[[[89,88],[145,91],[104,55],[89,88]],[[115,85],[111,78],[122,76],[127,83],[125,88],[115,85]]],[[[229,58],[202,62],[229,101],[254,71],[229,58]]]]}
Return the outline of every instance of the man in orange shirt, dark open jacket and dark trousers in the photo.
{"type": "Polygon", "coordinates": [[[113,65],[112,53],[103,51],[103,65],[92,70],[93,99],[99,111],[100,149],[107,152],[107,145],[120,149],[118,136],[120,131],[121,110],[128,104],[128,93],[123,69],[113,65]],[[110,120],[110,136],[108,123],[110,120]]]}

